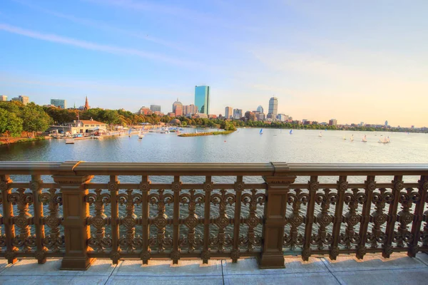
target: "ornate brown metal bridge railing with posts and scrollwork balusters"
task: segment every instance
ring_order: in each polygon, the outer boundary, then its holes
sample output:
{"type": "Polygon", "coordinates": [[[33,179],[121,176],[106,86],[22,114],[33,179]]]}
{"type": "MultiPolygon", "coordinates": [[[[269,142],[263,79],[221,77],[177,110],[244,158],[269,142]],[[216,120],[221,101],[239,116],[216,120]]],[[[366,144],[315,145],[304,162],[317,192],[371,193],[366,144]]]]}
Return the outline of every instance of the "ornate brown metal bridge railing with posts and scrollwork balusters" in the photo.
{"type": "Polygon", "coordinates": [[[0,191],[9,263],[428,252],[422,164],[0,162],[0,191]]]}

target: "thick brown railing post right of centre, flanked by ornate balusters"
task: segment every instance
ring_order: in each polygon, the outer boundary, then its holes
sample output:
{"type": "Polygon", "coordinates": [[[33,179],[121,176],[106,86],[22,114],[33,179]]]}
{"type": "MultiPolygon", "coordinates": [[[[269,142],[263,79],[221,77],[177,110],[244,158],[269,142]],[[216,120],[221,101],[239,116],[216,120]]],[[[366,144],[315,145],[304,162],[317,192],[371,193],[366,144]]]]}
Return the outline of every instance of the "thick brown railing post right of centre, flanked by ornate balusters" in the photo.
{"type": "Polygon", "coordinates": [[[263,224],[262,254],[258,258],[260,269],[285,268],[282,244],[286,223],[287,197],[294,175],[287,175],[286,164],[275,164],[274,176],[263,177],[267,183],[265,224],[263,224]],[[278,171],[282,170],[282,171],[278,171]],[[285,171],[284,171],[285,170],[285,171]]]}

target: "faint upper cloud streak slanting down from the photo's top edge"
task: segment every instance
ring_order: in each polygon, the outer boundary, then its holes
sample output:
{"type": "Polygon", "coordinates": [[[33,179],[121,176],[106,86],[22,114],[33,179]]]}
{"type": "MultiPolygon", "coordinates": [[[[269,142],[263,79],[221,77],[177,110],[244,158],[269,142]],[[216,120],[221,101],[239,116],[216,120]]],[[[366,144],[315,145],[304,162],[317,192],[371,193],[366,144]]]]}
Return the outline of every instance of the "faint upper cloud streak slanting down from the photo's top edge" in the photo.
{"type": "Polygon", "coordinates": [[[29,8],[34,9],[36,11],[41,11],[45,14],[49,14],[51,16],[56,16],[56,17],[61,18],[61,19],[66,19],[68,21],[72,21],[76,24],[81,24],[83,26],[91,26],[93,28],[98,28],[98,29],[104,30],[104,31],[122,33],[126,36],[131,36],[133,38],[141,38],[145,41],[151,41],[153,43],[158,43],[162,46],[166,46],[168,48],[173,48],[177,51],[185,51],[188,53],[192,52],[191,48],[185,47],[180,43],[165,41],[164,39],[157,38],[156,36],[153,36],[151,34],[149,35],[148,31],[139,32],[139,31],[132,31],[132,30],[124,29],[124,28],[118,28],[116,26],[111,26],[111,25],[108,25],[108,24],[103,23],[101,21],[94,21],[92,19],[83,19],[83,18],[80,18],[77,16],[73,16],[71,14],[63,14],[63,13],[60,13],[58,11],[45,9],[45,8],[40,7],[40,6],[35,6],[34,4],[28,3],[26,1],[21,1],[21,0],[12,0],[12,1],[19,3],[21,5],[24,5],[24,6],[28,6],[29,8]]]}

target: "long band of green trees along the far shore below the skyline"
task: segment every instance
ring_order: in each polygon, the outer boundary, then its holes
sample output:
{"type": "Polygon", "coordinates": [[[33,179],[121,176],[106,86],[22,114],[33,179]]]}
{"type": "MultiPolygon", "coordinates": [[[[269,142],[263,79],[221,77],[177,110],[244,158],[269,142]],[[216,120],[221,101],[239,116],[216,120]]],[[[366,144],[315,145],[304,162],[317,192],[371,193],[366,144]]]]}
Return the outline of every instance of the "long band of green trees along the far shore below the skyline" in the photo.
{"type": "MultiPolygon", "coordinates": [[[[54,107],[44,107],[35,103],[24,105],[19,101],[0,102],[0,137],[2,142],[10,138],[34,138],[43,135],[49,125],[64,125],[75,120],[96,120],[106,123],[111,128],[114,125],[131,126],[141,123],[159,125],[168,124],[173,117],[168,115],[158,116],[141,115],[127,110],[105,110],[101,108],[91,108],[89,110],[60,109],[54,107]]],[[[241,118],[240,120],[230,120],[225,118],[188,118],[178,116],[183,127],[198,126],[206,128],[222,128],[224,130],[235,130],[236,128],[286,128],[286,129],[307,129],[307,130],[361,130],[361,131],[389,131],[389,132],[409,132],[428,133],[428,128],[367,128],[357,126],[335,126],[335,125],[302,125],[297,123],[285,123],[280,121],[261,121],[241,118]]]]}

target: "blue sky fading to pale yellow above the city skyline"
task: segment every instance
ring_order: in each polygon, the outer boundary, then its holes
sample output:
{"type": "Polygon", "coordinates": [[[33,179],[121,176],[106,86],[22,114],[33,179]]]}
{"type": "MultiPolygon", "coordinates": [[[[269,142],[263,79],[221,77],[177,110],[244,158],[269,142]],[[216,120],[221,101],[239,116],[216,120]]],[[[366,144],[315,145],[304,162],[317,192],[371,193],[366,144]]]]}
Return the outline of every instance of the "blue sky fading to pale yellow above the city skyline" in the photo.
{"type": "Polygon", "coordinates": [[[426,0],[0,0],[0,95],[428,126],[426,0]]]}

